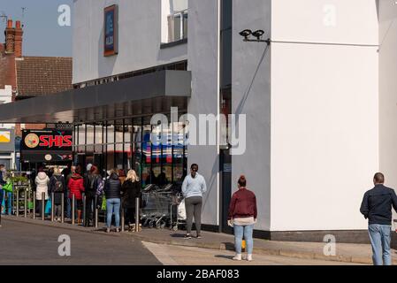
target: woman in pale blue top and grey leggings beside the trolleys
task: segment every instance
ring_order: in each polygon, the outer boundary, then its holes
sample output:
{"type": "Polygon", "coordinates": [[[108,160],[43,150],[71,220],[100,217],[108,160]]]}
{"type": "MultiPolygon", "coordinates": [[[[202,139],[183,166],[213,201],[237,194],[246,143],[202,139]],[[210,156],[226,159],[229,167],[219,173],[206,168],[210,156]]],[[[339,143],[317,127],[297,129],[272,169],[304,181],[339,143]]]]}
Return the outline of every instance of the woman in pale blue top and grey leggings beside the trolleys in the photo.
{"type": "Polygon", "coordinates": [[[187,175],[182,183],[182,194],[185,197],[185,207],[187,212],[187,233],[185,239],[192,239],[191,231],[193,217],[195,216],[196,238],[201,239],[202,229],[202,195],[207,191],[204,177],[198,172],[198,165],[190,166],[190,174],[187,175]]]}

